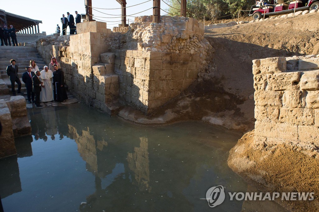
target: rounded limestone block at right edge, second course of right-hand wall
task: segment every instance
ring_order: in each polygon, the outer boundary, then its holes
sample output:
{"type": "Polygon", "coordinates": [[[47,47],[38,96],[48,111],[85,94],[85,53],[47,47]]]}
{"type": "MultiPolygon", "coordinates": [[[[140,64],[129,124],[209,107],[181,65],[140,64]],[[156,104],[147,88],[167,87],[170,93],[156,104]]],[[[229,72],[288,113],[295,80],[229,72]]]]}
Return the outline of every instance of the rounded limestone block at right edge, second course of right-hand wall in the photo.
{"type": "Polygon", "coordinates": [[[306,71],[300,79],[301,90],[319,90],[319,70],[306,71]]]}

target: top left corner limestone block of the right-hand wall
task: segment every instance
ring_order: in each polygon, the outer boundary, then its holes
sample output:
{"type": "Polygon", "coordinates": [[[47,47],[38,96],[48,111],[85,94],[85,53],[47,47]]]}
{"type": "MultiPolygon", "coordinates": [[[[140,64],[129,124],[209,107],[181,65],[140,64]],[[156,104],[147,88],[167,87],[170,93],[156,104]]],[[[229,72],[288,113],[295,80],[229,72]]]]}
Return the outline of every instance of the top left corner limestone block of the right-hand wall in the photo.
{"type": "Polygon", "coordinates": [[[253,74],[273,74],[287,71],[285,57],[272,57],[253,60],[253,74]]]}

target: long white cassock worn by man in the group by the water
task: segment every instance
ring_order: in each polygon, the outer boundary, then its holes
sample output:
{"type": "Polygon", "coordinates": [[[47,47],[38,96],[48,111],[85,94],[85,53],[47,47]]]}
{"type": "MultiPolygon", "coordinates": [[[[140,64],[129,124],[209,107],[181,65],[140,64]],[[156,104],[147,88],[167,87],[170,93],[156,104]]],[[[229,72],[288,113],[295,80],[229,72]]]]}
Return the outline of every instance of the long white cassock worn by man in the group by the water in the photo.
{"type": "Polygon", "coordinates": [[[44,88],[42,88],[40,93],[41,102],[53,101],[53,73],[51,70],[40,72],[40,81],[43,82],[44,88]]]}

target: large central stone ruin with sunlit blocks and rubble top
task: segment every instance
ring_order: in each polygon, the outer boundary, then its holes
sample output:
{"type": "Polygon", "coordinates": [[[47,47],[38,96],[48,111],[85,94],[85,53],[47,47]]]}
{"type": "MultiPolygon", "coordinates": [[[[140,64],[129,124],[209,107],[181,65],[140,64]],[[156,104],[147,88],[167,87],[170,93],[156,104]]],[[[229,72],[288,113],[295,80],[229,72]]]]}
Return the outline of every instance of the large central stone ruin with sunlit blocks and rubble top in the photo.
{"type": "Polygon", "coordinates": [[[124,34],[106,23],[84,22],[69,42],[39,39],[37,47],[47,63],[58,56],[68,88],[81,101],[112,115],[120,105],[147,114],[197,79],[211,48],[197,20],[151,18],[136,18],[124,34]]]}

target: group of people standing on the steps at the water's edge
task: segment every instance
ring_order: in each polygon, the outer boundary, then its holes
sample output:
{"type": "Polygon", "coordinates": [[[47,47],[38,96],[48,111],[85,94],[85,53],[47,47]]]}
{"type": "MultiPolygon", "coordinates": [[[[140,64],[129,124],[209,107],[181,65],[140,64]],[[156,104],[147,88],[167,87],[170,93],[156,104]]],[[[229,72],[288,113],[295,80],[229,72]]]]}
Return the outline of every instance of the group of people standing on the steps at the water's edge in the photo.
{"type": "MultiPolygon", "coordinates": [[[[10,60],[11,65],[7,67],[7,74],[11,81],[11,90],[15,92],[15,82],[18,84],[18,94],[21,92],[21,81],[18,74],[16,60],[10,60]]],[[[44,66],[40,71],[34,60],[30,60],[30,66],[26,67],[26,72],[22,74],[22,81],[26,85],[28,103],[35,103],[36,107],[42,107],[41,102],[65,102],[68,99],[64,84],[64,73],[60,63],[52,57],[49,66],[44,66]]]]}

